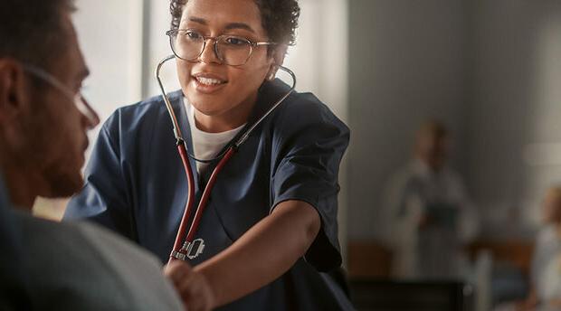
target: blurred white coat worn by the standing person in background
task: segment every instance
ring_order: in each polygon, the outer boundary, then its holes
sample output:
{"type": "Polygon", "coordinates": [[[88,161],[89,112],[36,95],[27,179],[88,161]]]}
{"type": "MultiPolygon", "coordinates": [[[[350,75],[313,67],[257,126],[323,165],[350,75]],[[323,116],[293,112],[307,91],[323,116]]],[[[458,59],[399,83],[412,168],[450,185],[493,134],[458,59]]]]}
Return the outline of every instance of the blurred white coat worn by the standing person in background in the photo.
{"type": "Polygon", "coordinates": [[[422,161],[414,160],[391,178],[385,197],[385,235],[394,255],[393,276],[463,278],[467,260],[461,247],[475,236],[479,221],[460,175],[449,168],[434,174],[422,161]],[[419,219],[437,205],[457,210],[456,221],[421,229],[419,219]]]}

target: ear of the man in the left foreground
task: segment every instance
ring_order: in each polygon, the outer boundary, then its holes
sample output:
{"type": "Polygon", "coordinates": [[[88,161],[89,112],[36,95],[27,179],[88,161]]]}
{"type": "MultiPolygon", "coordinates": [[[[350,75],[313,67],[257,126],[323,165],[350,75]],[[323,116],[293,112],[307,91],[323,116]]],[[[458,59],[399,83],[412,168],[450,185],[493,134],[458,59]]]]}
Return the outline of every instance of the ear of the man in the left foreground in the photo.
{"type": "Polygon", "coordinates": [[[24,69],[19,62],[0,59],[0,122],[17,116],[24,108],[24,69]]]}

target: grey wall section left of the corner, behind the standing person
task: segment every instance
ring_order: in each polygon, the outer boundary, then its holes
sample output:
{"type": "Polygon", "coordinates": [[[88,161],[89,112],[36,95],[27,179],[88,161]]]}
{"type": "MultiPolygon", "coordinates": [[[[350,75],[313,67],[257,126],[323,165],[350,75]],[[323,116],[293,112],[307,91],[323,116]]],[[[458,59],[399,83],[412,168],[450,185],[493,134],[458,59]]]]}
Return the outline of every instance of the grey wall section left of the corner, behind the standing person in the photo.
{"type": "Polygon", "coordinates": [[[379,237],[385,181],[408,160],[425,118],[465,146],[465,17],[460,0],[349,2],[349,238],[379,237]]]}

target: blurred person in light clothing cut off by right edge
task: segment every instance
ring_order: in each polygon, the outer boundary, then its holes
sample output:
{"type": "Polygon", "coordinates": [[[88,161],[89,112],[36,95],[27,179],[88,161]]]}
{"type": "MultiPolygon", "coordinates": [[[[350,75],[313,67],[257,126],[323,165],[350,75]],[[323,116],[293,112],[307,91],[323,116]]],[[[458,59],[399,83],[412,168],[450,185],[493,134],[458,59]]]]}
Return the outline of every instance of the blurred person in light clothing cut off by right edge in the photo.
{"type": "Polygon", "coordinates": [[[519,310],[561,310],[561,186],[547,190],[544,226],[538,231],[530,270],[530,294],[519,310]]]}

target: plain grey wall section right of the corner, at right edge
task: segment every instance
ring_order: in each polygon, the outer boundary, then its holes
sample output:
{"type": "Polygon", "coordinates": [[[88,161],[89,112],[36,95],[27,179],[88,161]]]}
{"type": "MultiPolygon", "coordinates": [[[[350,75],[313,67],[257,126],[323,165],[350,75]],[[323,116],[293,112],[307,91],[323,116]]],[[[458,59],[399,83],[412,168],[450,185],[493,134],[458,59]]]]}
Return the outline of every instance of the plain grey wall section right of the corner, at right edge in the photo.
{"type": "Polygon", "coordinates": [[[526,236],[561,182],[561,2],[478,0],[470,11],[468,181],[485,234],[526,236]]]}

